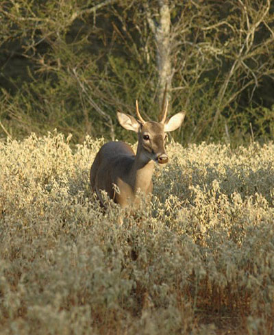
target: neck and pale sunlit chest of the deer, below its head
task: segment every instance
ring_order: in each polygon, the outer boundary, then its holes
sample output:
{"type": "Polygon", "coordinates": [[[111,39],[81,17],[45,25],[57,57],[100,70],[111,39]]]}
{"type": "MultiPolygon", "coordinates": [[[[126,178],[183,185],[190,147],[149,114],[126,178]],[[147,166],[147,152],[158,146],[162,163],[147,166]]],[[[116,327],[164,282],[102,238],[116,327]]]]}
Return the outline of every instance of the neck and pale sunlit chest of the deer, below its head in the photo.
{"type": "Polygon", "coordinates": [[[132,166],[132,179],[134,180],[134,192],[140,188],[142,192],[148,193],[154,170],[153,160],[147,158],[142,145],[138,144],[137,153],[132,166]]]}

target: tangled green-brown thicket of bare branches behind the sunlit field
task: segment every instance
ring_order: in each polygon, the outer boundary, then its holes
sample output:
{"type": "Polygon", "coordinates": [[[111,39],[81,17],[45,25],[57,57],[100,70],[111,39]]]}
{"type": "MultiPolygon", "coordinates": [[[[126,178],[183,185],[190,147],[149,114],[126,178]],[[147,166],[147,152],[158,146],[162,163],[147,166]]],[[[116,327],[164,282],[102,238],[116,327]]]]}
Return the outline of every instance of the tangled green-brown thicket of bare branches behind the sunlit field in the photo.
{"type": "Polygon", "coordinates": [[[273,138],[273,19],[270,0],[1,1],[0,136],[133,140],[116,109],[157,119],[165,57],[177,140],[273,138]]]}

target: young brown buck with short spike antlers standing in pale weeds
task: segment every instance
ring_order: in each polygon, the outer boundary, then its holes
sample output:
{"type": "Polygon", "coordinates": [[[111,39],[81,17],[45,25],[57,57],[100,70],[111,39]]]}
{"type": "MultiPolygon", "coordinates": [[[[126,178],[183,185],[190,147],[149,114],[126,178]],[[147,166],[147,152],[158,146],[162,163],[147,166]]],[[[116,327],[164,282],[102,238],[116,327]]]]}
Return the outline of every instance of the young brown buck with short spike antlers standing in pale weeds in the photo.
{"type": "Polygon", "coordinates": [[[182,125],[185,116],[185,112],[179,112],[166,121],[167,110],[166,101],[160,122],[146,122],[142,119],[137,100],[138,120],[131,115],[117,112],[120,125],[138,133],[138,147],[135,155],[132,147],[125,142],[108,142],[97,153],[90,169],[90,184],[102,206],[101,190],[105,190],[123,208],[136,205],[138,189],[145,195],[152,192],[154,162],[164,165],[169,160],[164,148],[165,132],[177,129],[182,125]],[[115,185],[118,186],[118,191],[115,185]]]}

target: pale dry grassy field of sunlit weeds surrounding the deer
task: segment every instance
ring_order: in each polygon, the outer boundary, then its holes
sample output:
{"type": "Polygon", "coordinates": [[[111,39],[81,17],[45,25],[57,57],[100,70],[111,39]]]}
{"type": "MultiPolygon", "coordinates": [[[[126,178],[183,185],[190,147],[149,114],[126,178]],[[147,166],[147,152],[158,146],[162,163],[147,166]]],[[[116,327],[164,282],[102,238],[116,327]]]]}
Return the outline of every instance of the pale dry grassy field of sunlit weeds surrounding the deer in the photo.
{"type": "Polygon", "coordinates": [[[90,195],[102,142],[0,143],[0,333],[273,334],[274,145],[169,145],[133,217],[90,195]]]}

